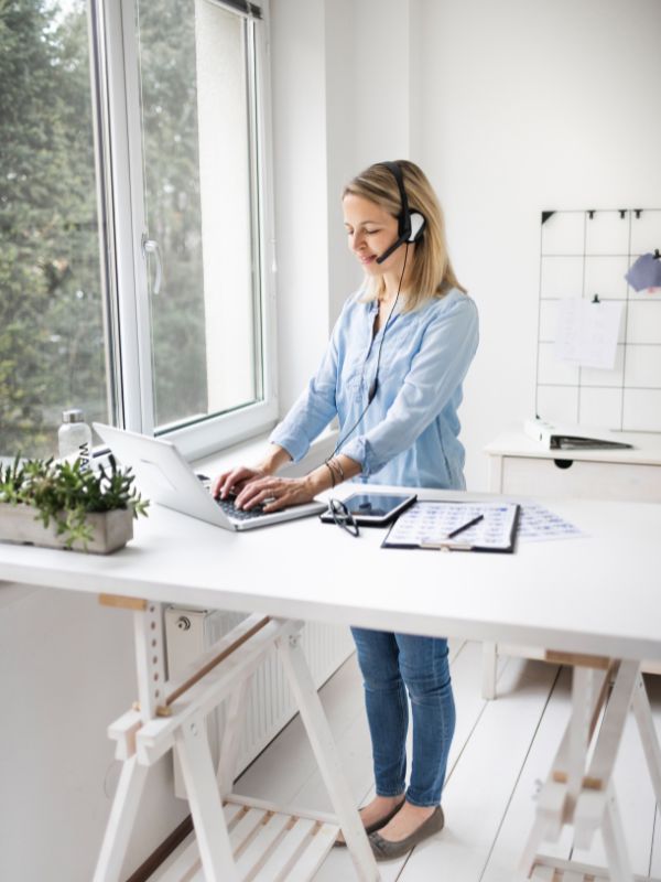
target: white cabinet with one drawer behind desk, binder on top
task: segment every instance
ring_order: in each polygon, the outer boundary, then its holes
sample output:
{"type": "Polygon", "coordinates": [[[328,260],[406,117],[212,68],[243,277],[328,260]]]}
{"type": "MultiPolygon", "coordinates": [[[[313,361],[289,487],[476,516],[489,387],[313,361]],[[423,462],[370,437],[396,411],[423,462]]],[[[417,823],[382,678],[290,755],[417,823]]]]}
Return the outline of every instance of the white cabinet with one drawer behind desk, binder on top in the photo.
{"type": "MultiPolygon", "coordinates": [[[[487,444],[489,490],[507,496],[661,503],[661,435],[617,433],[631,450],[544,450],[523,431],[508,432],[487,444]]],[[[531,587],[532,588],[532,587],[531,587]]],[[[626,591],[626,585],[622,585],[626,591]]],[[[548,647],[553,648],[553,647],[548,647]]],[[[483,695],[496,697],[498,655],[544,658],[543,648],[486,643],[483,695]]],[[[661,666],[643,670],[661,674],[661,666]]]]}

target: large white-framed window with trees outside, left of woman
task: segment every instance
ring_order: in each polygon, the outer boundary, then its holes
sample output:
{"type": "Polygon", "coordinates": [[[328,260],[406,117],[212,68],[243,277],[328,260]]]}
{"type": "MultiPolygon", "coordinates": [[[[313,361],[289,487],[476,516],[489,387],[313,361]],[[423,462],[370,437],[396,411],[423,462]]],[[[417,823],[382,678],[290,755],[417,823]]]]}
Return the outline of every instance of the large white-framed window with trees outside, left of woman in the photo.
{"type": "Polygon", "coordinates": [[[30,114],[1,108],[0,454],[54,452],[72,406],[189,455],[271,424],[260,7],[9,7],[0,101],[30,114]],[[15,69],[37,56],[43,84],[15,69]]]}

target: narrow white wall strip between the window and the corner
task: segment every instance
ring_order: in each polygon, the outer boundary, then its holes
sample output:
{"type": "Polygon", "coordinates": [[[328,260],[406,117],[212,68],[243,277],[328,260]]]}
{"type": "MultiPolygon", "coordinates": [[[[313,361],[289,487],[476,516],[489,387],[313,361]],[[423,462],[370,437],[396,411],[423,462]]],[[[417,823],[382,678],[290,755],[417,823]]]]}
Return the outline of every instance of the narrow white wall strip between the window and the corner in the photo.
{"type": "Polygon", "coordinates": [[[323,0],[271,2],[279,394],[286,410],[328,336],[323,0]]]}

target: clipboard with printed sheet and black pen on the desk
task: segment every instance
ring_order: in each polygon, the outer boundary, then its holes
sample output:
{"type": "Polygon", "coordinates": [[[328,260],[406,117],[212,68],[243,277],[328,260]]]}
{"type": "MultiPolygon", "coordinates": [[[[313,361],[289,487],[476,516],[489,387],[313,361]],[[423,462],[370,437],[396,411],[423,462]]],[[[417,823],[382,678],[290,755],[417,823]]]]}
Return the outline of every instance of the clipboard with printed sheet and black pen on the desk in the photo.
{"type": "Polygon", "coordinates": [[[508,502],[418,501],[395,520],[381,548],[511,555],[519,512],[517,503],[508,502]],[[470,521],[477,523],[464,529],[470,521]]]}

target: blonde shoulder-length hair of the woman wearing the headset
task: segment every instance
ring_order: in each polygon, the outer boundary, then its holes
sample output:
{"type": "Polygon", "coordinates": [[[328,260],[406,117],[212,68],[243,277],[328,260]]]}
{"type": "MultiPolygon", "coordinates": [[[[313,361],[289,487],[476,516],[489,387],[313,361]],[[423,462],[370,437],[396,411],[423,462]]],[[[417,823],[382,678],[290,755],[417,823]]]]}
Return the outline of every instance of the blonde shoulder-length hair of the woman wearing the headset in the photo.
{"type": "MultiPolygon", "coordinates": [[[[425,219],[422,236],[415,243],[413,262],[408,276],[407,300],[402,310],[411,312],[432,298],[444,297],[451,288],[457,288],[464,293],[466,289],[458,283],[449,262],[443,211],[426,175],[414,162],[398,160],[397,164],[402,172],[409,212],[420,212],[425,219]]],[[[370,165],[349,181],[342,197],[349,194],[373,202],[393,217],[401,212],[398,182],[383,163],[377,162],[370,165]]],[[[384,289],[383,278],[372,277],[366,283],[365,299],[375,300],[384,292],[384,289]]]]}

